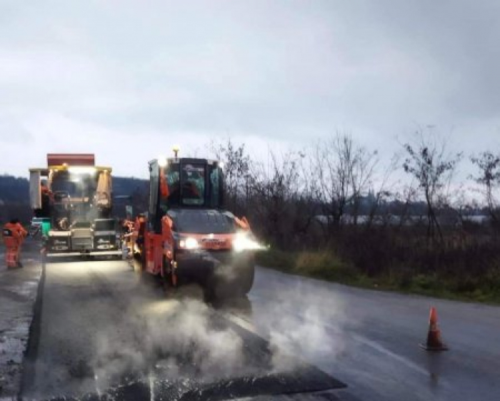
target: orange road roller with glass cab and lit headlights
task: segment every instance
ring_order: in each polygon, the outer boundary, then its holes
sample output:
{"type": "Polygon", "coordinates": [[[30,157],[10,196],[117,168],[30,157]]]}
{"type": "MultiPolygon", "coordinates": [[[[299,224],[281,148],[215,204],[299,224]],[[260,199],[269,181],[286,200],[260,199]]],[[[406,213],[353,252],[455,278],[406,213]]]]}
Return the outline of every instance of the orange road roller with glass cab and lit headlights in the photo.
{"type": "Polygon", "coordinates": [[[149,210],[134,244],[142,270],[215,297],[248,293],[259,245],[246,218],[224,209],[221,163],[175,155],[149,162],[149,210]]]}

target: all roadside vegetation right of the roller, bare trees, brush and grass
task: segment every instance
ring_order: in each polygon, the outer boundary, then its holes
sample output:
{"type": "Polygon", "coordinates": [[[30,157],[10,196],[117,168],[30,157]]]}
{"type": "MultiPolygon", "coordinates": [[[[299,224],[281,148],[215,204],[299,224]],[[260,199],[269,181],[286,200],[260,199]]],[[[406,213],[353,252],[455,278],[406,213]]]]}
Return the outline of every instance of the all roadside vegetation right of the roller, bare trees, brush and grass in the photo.
{"type": "MultiPolygon", "coordinates": [[[[500,303],[500,157],[419,131],[391,161],[337,133],[300,152],[213,144],[227,203],[270,246],[258,263],[363,288],[500,303]],[[474,172],[457,180],[463,167],[474,172]]],[[[464,176],[462,173],[461,176],[464,176]]]]}

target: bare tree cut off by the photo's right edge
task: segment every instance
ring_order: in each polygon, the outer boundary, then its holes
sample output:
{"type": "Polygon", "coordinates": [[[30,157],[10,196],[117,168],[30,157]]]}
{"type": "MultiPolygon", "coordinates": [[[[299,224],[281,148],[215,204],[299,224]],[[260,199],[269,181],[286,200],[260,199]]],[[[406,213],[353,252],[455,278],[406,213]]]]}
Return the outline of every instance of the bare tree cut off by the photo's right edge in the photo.
{"type": "Polygon", "coordinates": [[[495,223],[499,222],[494,190],[500,184],[500,156],[486,151],[479,156],[471,156],[471,161],[479,169],[478,176],[472,176],[476,183],[484,187],[484,196],[489,215],[495,223]]]}

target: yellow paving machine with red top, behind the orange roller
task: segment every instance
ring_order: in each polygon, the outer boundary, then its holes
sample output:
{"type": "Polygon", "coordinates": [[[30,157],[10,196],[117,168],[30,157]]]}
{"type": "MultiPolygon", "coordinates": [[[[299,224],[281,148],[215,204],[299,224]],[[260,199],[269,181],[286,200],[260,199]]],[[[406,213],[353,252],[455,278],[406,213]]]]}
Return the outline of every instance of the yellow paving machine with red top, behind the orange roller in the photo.
{"type": "Polygon", "coordinates": [[[116,255],[121,244],[111,215],[111,168],[93,154],[49,153],[46,168],[30,168],[30,202],[44,221],[46,255],[116,255]]]}

